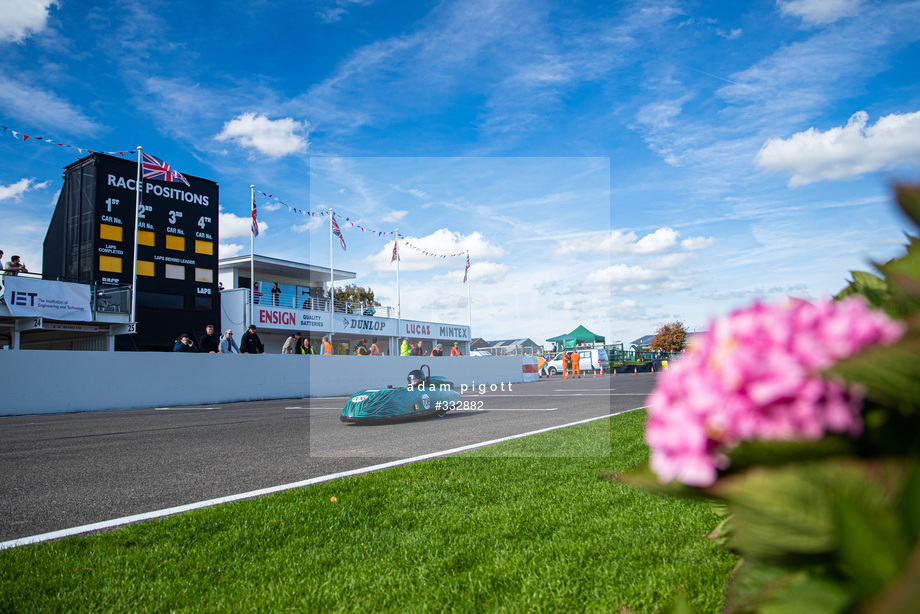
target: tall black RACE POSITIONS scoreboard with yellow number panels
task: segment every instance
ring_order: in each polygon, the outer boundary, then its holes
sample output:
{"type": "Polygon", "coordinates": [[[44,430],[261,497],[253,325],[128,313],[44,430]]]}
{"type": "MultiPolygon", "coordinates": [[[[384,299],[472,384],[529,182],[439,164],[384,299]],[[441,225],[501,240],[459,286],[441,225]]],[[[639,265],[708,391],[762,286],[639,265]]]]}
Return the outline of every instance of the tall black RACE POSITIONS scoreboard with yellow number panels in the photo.
{"type": "MultiPolygon", "coordinates": [[[[137,225],[135,342],[171,349],[220,326],[218,185],[142,180],[137,225]]],[[[65,169],[64,189],[45,238],[45,273],[129,286],[134,264],[137,162],[92,154],[65,169]],[[63,248],[56,254],[55,246],[63,248]],[[51,253],[49,253],[49,251],[51,253]],[[50,258],[49,258],[50,256],[50,258]],[[55,264],[57,263],[57,264],[55,264]]]]}

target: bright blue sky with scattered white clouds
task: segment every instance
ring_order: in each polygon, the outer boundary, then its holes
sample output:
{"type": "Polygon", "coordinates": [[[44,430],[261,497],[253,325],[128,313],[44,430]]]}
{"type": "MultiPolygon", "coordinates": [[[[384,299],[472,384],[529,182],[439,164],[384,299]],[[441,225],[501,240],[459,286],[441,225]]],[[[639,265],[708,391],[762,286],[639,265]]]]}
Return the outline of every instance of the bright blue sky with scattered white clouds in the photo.
{"type": "MultiPolygon", "coordinates": [[[[818,298],[897,255],[920,3],[0,0],[0,249],[39,270],[76,150],[221,190],[221,253],[328,265],[334,209],[469,250],[473,335],[629,342],[818,298]],[[19,139],[11,133],[20,134],[19,139]]],[[[335,266],[396,303],[391,236],[335,266]]],[[[401,246],[406,318],[465,324],[465,258],[401,246]]]]}

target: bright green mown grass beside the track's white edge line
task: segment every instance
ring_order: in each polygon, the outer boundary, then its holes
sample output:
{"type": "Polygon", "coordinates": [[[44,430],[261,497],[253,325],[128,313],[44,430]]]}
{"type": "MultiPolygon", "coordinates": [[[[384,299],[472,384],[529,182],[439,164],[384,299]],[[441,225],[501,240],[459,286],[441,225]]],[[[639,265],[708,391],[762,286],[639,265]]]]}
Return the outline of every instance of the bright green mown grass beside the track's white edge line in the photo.
{"type": "Polygon", "coordinates": [[[602,478],[644,418],[5,550],[0,612],[719,611],[709,508],[602,478]]]}

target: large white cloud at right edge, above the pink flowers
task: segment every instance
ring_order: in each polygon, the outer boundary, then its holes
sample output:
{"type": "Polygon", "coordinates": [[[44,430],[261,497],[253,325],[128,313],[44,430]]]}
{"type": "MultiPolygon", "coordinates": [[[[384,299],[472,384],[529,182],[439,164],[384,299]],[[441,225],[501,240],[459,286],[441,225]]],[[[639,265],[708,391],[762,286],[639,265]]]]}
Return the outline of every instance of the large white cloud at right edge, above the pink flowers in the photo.
{"type": "Polygon", "coordinates": [[[809,128],[788,139],[772,138],[757,153],[757,165],[792,173],[790,186],[850,179],[898,164],[920,164],[920,111],[887,115],[867,126],[855,113],[846,126],[820,132],[809,128]]]}

